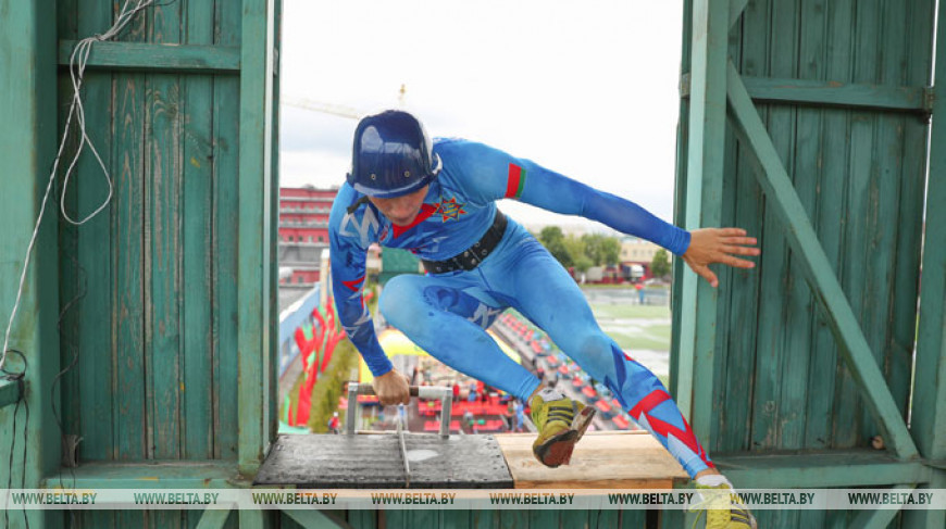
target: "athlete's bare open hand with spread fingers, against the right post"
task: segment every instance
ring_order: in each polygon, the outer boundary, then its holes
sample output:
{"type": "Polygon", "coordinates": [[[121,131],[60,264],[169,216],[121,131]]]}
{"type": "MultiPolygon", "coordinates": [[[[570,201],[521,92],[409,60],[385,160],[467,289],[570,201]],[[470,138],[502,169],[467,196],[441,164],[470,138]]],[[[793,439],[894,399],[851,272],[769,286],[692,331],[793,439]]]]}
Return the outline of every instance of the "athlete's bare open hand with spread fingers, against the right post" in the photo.
{"type": "Polygon", "coordinates": [[[689,232],[689,248],[683,261],[700,277],[715,288],[720,280],[709,269],[713,263],[722,263],[736,268],[754,268],[756,263],[734,255],[759,255],[761,250],[752,248],[755,237],[746,237],[742,228],[701,228],[689,232]]]}

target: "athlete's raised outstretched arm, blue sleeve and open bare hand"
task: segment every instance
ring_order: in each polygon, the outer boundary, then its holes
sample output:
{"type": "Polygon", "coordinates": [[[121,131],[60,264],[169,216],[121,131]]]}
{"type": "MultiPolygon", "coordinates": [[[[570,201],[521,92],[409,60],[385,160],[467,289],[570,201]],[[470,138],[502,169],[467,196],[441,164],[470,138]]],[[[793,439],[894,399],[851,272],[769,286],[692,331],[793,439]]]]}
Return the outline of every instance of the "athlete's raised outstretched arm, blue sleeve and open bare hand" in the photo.
{"type": "Polygon", "coordinates": [[[464,141],[449,141],[441,149],[452,150],[471,187],[472,198],[484,203],[502,198],[516,199],[544,210],[580,215],[600,222],[623,234],[640,237],[680,255],[694,272],[713,287],[719,285],[710,264],[750,268],[750,261],[734,255],[758,255],[748,248],[756,239],[745,237],[738,228],[704,228],[688,232],[665,223],[644,207],[611,193],[599,191],[547,169],[531,160],[518,159],[491,147],[464,141]]]}

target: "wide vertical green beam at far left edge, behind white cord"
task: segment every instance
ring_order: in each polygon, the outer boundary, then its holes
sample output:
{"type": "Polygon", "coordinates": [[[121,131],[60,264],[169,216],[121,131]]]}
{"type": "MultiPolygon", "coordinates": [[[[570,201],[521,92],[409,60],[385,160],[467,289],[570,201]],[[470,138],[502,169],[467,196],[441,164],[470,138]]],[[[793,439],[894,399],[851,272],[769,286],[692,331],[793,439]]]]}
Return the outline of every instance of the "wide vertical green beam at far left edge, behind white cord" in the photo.
{"type": "MultiPolygon", "coordinates": [[[[27,248],[34,234],[41,203],[49,185],[50,168],[57,152],[55,29],[57,2],[3,2],[0,15],[0,159],[3,160],[0,191],[0,349],[11,312],[17,298],[27,248]]],[[[59,223],[57,192],[46,204],[43,218],[32,250],[23,284],[23,295],[11,327],[8,349],[22,351],[28,365],[25,400],[13,428],[15,406],[0,406],[0,482],[12,478],[14,487],[35,488],[42,476],[60,463],[61,444],[51,412],[50,388],[60,370],[59,317],[59,223]],[[57,432],[57,433],[53,433],[57,432]],[[28,439],[23,442],[24,436],[28,439]],[[16,439],[14,452],[9,452],[16,439]],[[24,455],[25,461],[24,461],[24,455]]],[[[24,365],[15,354],[7,356],[4,367],[18,373],[24,365]]],[[[7,389],[2,400],[10,402],[7,389]]],[[[14,391],[14,393],[16,393],[14,391]]],[[[11,519],[13,517],[11,516],[11,519]]],[[[63,513],[25,511],[16,513],[17,525],[61,527],[63,513]],[[25,520],[21,520],[26,516],[25,520]]]]}

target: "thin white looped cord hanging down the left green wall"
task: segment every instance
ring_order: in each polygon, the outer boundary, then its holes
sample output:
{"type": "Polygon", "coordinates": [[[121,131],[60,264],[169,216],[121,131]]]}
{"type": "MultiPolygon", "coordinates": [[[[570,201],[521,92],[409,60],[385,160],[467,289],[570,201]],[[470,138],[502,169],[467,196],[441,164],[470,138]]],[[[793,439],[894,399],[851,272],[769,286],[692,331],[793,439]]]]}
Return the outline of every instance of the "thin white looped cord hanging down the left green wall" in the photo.
{"type": "Polygon", "coordinates": [[[96,147],[92,144],[92,140],[86,134],[86,116],[85,109],[83,108],[83,100],[79,96],[79,90],[83,86],[83,77],[85,76],[86,64],[88,63],[89,53],[92,51],[92,45],[96,42],[101,42],[104,40],[111,40],[120,33],[125,26],[132,22],[132,18],[138,14],[139,11],[154,3],[154,0],[125,0],[125,4],[122,7],[122,11],[119,13],[119,16],[115,18],[115,23],[112,27],[109,28],[105,33],[101,35],[95,35],[92,37],[87,37],[82,39],[75,47],[69,59],[69,74],[72,78],[72,88],[73,88],[73,97],[72,104],[69,108],[69,115],[65,118],[65,127],[63,127],[62,139],[59,142],[59,150],[55,153],[55,160],[52,163],[52,169],[49,172],[49,182],[46,185],[46,194],[42,197],[42,205],[39,207],[39,215],[36,216],[36,226],[33,228],[33,237],[29,239],[29,245],[26,248],[26,259],[23,261],[23,270],[20,275],[20,288],[16,291],[16,301],[13,303],[13,311],[10,312],[10,322],[7,324],[7,333],[3,338],[3,349],[0,350],[0,369],[3,368],[3,364],[7,362],[7,351],[10,345],[10,331],[13,329],[13,320],[16,318],[16,311],[20,308],[20,302],[23,298],[23,285],[26,282],[26,272],[29,269],[29,259],[33,254],[33,247],[36,245],[36,237],[39,234],[39,225],[42,222],[42,214],[46,212],[46,202],[49,200],[49,192],[52,189],[52,182],[55,181],[55,172],[59,169],[59,162],[62,158],[63,150],[65,149],[66,140],[69,139],[69,131],[72,125],[73,116],[76,118],[76,123],[79,129],[79,144],[73,154],[72,161],[69,164],[69,168],[65,172],[65,176],[62,184],[62,194],[60,200],[60,210],[62,211],[63,218],[66,219],[70,224],[75,226],[82,226],[87,222],[91,221],[92,217],[98,215],[105,206],[109,205],[109,202],[112,200],[112,178],[109,176],[109,169],[105,167],[104,162],[102,162],[102,158],[99,155],[99,151],[96,150],[96,147]],[[105,177],[105,181],[109,184],[109,196],[102,203],[89,215],[87,215],[82,221],[74,221],[69,213],[65,211],[65,194],[69,189],[69,180],[72,175],[73,169],[75,168],[76,163],[78,162],[79,155],[82,154],[83,148],[88,143],[89,149],[92,151],[92,155],[95,155],[96,161],[99,163],[99,167],[102,168],[102,174],[105,177]]]}

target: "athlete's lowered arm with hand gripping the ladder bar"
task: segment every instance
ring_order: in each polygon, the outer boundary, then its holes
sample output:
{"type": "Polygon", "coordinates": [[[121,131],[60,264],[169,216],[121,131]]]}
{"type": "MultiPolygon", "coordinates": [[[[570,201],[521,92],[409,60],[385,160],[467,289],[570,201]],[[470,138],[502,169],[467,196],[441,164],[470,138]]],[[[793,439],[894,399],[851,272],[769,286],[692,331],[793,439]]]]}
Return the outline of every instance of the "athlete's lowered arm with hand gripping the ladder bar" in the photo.
{"type": "MultiPolygon", "coordinates": [[[[374,332],[371,313],[364,305],[364,268],[368,257],[368,229],[358,229],[365,222],[357,222],[346,210],[349,193],[339,191],[328,219],[328,244],[332,266],[332,291],[335,307],[348,339],[361,353],[371,369],[372,386],[382,405],[410,403],[410,389],[407,377],[394,368],[374,332]],[[364,237],[363,237],[364,236],[364,237]],[[363,240],[362,240],[363,239],[363,240]]],[[[368,213],[366,213],[368,214],[368,213]]]]}

